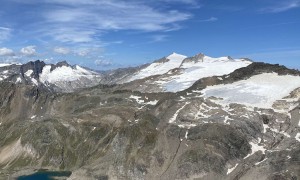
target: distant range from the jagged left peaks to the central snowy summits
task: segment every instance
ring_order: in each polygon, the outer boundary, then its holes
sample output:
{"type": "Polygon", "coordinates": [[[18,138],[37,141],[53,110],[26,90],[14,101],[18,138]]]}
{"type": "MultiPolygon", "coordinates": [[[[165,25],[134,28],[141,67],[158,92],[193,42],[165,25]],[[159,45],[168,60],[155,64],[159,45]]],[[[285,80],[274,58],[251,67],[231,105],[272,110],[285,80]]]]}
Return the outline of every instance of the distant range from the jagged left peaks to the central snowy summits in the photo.
{"type": "Polygon", "coordinates": [[[173,53],[144,66],[100,73],[78,65],[71,66],[65,61],[54,65],[37,60],[26,64],[0,64],[0,80],[72,92],[100,83],[124,84],[149,79],[142,86],[152,88],[151,92],[177,92],[190,87],[198,79],[228,74],[251,63],[247,59],[211,58],[203,54],[188,58],[173,53]]]}

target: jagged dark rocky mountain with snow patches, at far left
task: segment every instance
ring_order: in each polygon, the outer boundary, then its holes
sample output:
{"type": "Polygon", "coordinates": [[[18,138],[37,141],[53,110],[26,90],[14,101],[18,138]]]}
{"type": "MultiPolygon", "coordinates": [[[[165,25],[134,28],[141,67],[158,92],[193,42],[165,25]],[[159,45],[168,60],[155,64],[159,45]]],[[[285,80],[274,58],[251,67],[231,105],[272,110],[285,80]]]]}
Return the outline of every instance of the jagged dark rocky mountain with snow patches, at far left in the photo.
{"type": "Polygon", "coordinates": [[[101,80],[100,76],[99,73],[78,65],[71,66],[66,61],[46,64],[36,60],[21,65],[0,67],[0,81],[42,85],[56,91],[67,92],[97,85],[101,80]]]}

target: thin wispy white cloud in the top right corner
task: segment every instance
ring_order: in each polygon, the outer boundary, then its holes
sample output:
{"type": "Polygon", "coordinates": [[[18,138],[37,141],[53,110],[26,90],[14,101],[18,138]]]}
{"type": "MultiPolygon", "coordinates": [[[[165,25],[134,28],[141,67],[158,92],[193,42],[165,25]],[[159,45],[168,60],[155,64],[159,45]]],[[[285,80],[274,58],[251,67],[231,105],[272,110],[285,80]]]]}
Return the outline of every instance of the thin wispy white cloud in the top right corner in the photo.
{"type": "Polygon", "coordinates": [[[276,4],[271,5],[266,8],[260,9],[262,13],[280,13],[291,9],[296,9],[300,7],[300,0],[285,0],[281,2],[276,2],[276,4]]]}

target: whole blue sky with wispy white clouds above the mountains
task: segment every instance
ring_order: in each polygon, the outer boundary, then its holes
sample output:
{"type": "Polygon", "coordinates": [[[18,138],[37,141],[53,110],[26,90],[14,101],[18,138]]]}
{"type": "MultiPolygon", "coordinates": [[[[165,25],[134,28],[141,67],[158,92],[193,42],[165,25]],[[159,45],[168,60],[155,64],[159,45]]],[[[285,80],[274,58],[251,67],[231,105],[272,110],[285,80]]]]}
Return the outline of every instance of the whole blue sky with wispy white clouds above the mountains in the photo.
{"type": "Polygon", "coordinates": [[[1,0],[1,62],[111,69],[172,52],[300,68],[300,0],[1,0]]]}

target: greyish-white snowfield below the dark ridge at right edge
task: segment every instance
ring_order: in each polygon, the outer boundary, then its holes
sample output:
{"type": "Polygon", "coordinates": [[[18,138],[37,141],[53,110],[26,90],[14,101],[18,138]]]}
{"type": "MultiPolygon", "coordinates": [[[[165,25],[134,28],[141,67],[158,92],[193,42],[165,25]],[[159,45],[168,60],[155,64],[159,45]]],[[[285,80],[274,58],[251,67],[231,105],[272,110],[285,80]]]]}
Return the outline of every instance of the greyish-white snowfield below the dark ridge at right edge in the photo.
{"type": "Polygon", "coordinates": [[[300,87],[300,76],[264,73],[232,84],[210,86],[201,92],[205,97],[219,97],[221,104],[239,103],[252,107],[271,108],[276,100],[300,87]]]}

